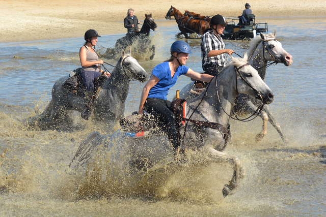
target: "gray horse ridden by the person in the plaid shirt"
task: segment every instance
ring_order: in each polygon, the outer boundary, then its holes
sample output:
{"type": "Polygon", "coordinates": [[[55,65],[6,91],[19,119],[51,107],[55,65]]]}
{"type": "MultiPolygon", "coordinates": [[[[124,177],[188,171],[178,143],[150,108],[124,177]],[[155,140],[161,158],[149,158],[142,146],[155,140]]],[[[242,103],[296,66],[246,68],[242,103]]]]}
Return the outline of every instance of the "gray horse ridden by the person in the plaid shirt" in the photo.
{"type": "MultiPolygon", "coordinates": [[[[268,62],[282,63],[285,66],[292,64],[292,56],[282,48],[282,44],[275,39],[276,31],[273,34],[260,34],[253,40],[249,50],[248,58],[249,63],[257,71],[259,76],[265,80],[266,68],[268,62]]],[[[180,97],[184,99],[192,99],[198,96],[198,93],[193,89],[194,83],[189,83],[180,91],[180,97]]],[[[236,115],[244,116],[253,114],[257,110],[257,102],[255,98],[249,95],[240,94],[235,100],[234,111],[236,115]]],[[[262,131],[256,136],[256,141],[260,141],[267,134],[267,121],[277,130],[284,143],[288,143],[288,139],[281,130],[279,123],[273,117],[268,106],[264,106],[259,116],[263,120],[262,131]]]]}

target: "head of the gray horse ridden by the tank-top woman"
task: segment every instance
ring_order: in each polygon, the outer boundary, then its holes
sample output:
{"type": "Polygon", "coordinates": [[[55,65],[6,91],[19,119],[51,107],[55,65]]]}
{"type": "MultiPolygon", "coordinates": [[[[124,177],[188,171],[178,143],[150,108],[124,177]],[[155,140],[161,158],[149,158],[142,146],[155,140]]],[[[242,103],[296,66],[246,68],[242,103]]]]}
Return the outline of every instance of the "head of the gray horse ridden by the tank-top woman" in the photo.
{"type": "Polygon", "coordinates": [[[138,61],[131,56],[131,49],[128,49],[127,53],[124,50],[121,51],[121,68],[124,71],[126,79],[137,79],[140,82],[148,80],[146,71],[139,65],[138,61]]]}

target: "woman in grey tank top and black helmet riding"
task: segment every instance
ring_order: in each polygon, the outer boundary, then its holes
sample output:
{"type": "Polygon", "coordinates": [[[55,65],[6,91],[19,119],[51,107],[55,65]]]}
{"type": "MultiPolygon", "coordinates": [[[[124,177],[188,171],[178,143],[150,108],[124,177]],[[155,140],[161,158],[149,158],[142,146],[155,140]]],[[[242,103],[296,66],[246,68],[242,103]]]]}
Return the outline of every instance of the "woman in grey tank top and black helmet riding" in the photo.
{"type": "MultiPolygon", "coordinates": [[[[86,96],[85,99],[89,102],[92,99],[94,90],[94,79],[101,75],[99,65],[103,65],[103,60],[98,60],[98,56],[95,51],[95,45],[97,43],[98,35],[96,30],[89,29],[85,33],[85,44],[79,49],[79,59],[82,65],[83,71],[80,73],[85,86],[86,86],[86,96]]],[[[110,76],[110,74],[104,73],[105,76],[110,76]]],[[[86,109],[82,112],[82,118],[88,120],[88,115],[90,111],[89,103],[86,103],[86,109]]]]}

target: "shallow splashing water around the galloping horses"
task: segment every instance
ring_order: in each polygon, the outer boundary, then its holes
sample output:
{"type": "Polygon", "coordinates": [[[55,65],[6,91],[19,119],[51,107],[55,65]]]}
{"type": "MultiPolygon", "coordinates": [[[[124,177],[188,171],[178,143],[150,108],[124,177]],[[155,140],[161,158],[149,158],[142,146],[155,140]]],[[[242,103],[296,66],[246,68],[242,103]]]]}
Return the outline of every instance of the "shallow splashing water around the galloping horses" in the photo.
{"type": "MultiPolygon", "coordinates": [[[[324,216],[324,20],[256,19],[268,22],[269,32],[276,29],[277,39],[293,56],[291,66],[271,66],[266,75],[275,94],[269,108],[290,144],[285,145],[269,123],[267,136],[256,143],[259,118],[231,121],[232,142],[226,152],[239,158],[246,177],[236,193],[226,198],[222,188],[231,175],[227,165],[164,167],[164,172],[158,166],[133,177],[118,172],[106,183],[96,181],[96,176],[67,174],[79,144],[89,133],[103,133],[103,129],[77,112],[71,115],[78,128],[71,132],[27,130],[25,120],[43,111],[58,78],[79,67],[77,51],[83,38],[0,44],[0,216],[324,216]]],[[[148,73],[169,57],[166,51],[178,33],[174,20],[156,23],[158,29],[151,33],[155,57],[139,60],[148,73]]],[[[102,36],[99,49],[114,47],[123,35],[102,36]]],[[[200,40],[185,41],[193,51],[187,66],[202,72],[200,40]]],[[[225,44],[243,54],[250,42],[225,44]]],[[[117,60],[105,61],[115,65],[117,60]]],[[[183,76],[169,99],[187,82],[183,76]]],[[[143,85],[131,81],[126,115],[138,110],[143,85]]]]}

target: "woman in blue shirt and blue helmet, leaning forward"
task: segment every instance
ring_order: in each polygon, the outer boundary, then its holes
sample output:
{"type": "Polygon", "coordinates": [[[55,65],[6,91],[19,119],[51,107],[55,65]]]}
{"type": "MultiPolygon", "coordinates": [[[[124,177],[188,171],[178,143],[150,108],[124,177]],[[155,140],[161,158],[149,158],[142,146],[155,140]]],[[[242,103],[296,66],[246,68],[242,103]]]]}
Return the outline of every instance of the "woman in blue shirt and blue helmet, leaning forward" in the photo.
{"type": "Polygon", "coordinates": [[[177,82],[181,75],[200,81],[209,82],[213,78],[211,75],[197,73],[184,66],[188,59],[188,54],[192,53],[190,46],[184,41],[175,41],[170,48],[171,57],[157,65],[150,79],[145,84],[138,113],[144,114],[144,106],[149,114],[154,115],[160,123],[162,130],[167,134],[170,144],[176,150],[180,146],[178,126],[175,115],[171,111],[171,102],[167,100],[169,89],[177,82]]]}

